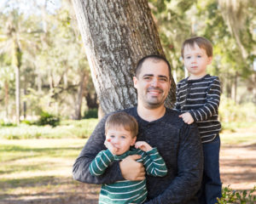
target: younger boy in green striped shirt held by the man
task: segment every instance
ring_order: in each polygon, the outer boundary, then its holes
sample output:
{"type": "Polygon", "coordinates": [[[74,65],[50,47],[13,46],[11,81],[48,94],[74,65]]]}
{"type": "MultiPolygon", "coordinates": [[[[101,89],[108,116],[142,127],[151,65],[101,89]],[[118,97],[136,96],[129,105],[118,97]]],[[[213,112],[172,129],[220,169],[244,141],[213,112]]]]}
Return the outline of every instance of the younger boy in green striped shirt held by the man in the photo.
{"type": "MultiPolygon", "coordinates": [[[[90,163],[90,173],[102,175],[113,161],[126,156],[140,155],[137,160],[143,163],[148,175],[163,177],[167,173],[166,163],[156,148],[137,139],[137,120],[125,112],[117,112],[108,116],[105,123],[105,146],[108,150],[100,151],[90,163]],[[135,145],[135,147],[132,147],[135,145]]],[[[99,203],[143,203],[147,199],[146,180],[121,180],[113,184],[102,184],[99,203]]]]}

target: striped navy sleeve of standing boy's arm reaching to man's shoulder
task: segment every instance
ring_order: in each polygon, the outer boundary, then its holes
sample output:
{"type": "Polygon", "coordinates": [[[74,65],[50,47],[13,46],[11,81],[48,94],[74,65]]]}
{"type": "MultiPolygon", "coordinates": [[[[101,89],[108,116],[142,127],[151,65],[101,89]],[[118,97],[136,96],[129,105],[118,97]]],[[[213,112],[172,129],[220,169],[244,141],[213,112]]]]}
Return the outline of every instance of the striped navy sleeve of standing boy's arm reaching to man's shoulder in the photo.
{"type": "Polygon", "coordinates": [[[220,82],[216,77],[207,90],[207,102],[197,110],[191,110],[189,113],[195,122],[206,121],[214,114],[218,114],[218,105],[220,101],[220,82]]]}

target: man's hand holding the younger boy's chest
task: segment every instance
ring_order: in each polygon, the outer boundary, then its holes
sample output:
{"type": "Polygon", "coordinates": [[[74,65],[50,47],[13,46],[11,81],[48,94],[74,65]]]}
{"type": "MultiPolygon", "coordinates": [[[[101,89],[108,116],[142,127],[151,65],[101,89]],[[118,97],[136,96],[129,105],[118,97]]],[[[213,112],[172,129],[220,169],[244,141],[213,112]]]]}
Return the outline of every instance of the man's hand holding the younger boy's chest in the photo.
{"type": "Polygon", "coordinates": [[[119,162],[121,173],[126,180],[136,181],[145,178],[145,168],[143,163],[137,162],[142,156],[127,156],[123,161],[119,162]]]}

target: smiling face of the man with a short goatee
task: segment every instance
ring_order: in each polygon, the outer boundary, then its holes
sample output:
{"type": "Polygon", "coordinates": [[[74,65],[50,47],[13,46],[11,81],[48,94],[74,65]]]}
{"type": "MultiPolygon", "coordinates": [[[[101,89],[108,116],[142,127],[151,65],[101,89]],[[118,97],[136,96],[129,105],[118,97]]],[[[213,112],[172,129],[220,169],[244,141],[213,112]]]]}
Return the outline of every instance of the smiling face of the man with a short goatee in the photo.
{"type": "Polygon", "coordinates": [[[148,109],[164,105],[171,81],[168,65],[164,60],[146,59],[137,77],[133,77],[137,88],[138,105],[148,109]]]}

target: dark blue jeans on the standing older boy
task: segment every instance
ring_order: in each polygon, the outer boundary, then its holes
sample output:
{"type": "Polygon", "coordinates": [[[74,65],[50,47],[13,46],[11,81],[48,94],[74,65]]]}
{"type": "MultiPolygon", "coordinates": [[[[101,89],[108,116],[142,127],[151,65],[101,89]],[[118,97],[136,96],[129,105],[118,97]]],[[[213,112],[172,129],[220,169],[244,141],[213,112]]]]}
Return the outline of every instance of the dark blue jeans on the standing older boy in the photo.
{"type": "Polygon", "coordinates": [[[204,172],[199,192],[200,204],[215,204],[218,203],[217,197],[221,194],[221,181],[219,175],[219,149],[220,139],[219,135],[209,143],[204,143],[204,172]]]}

